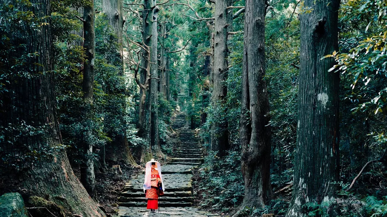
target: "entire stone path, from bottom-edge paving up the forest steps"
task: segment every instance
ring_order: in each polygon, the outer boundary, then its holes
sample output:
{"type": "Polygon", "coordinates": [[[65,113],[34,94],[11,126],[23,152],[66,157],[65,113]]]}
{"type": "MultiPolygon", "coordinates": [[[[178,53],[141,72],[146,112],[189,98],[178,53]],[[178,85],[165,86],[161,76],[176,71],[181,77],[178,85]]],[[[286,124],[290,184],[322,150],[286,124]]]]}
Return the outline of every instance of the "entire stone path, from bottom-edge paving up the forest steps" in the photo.
{"type": "Polygon", "coordinates": [[[202,145],[195,132],[183,129],[186,116],[177,115],[172,124],[178,137],[178,150],[170,163],[161,166],[165,186],[164,195],[159,198],[160,212],[149,212],[147,200],[142,190],[144,173],[125,184],[120,197],[118,215],[120,217],[140,216],[184,216],[209,217],[219,216],[192,207],[192,168],[203,161],[202,145]]]}

